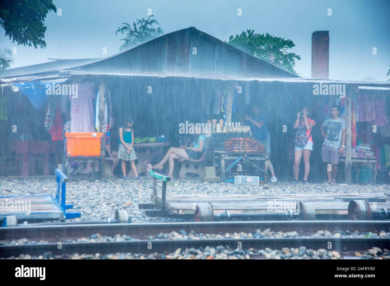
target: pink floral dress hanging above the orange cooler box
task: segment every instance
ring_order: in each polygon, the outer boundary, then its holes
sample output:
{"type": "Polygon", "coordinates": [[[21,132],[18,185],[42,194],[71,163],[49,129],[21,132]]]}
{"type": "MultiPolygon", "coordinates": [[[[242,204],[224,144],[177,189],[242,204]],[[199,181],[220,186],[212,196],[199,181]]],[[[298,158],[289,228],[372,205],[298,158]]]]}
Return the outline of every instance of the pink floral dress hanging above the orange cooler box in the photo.
{"type": "Polygon", "coordinates": [[[94,106],[92,100],[94,95],[92,93],[91,82],[78,83],[78,97],[71,100],[71,128],[72,132],[94,132],[94,106]]]}

